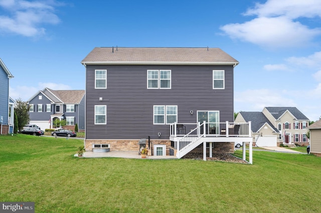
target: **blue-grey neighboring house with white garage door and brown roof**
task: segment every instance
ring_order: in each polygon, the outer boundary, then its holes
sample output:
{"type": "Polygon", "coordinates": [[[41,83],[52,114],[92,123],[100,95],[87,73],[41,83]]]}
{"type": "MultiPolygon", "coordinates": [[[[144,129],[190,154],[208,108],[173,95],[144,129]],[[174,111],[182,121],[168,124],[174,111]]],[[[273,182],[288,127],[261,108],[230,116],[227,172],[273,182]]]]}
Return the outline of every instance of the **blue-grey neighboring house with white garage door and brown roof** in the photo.
{"type": "Polygon", "coordinates": [[[53,90],[44,88],[34,94],[28,101],[30,124],[46,128],[55,126],[56,119],[65,119],[66,129],[85,129],[85,90],[53,90]]]}

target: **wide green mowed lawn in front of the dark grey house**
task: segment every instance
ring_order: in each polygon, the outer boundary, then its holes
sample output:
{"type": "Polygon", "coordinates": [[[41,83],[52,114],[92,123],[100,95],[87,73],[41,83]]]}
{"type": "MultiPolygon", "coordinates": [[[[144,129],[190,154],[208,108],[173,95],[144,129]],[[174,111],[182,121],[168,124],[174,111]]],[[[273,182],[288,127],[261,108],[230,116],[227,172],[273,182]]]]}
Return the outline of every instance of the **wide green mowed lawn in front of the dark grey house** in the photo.
{"type": "Polygon", "coordinates": [[[252,165],[74,157],[82,143],[1,135],[0,201],[33,201],[36,212],[321,209],[321,158],[313,155],[253,151],[252,165]]]}

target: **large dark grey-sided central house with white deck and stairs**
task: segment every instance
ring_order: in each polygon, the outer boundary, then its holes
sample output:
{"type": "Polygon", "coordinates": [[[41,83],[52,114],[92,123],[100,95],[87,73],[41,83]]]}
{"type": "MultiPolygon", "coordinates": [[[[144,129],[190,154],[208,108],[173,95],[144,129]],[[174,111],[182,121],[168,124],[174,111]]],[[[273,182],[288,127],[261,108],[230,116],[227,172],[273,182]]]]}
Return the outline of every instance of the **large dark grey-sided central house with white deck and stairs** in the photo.
{"type": "Polygon", "coordinates": [[[96,47],[81,63],[86,150],[107,144],[110,151],[138,151],[149,137],[148,154],[180,158],[252,142],[249,123],[234,123],[239,62],[220,48],[96,47]]]}

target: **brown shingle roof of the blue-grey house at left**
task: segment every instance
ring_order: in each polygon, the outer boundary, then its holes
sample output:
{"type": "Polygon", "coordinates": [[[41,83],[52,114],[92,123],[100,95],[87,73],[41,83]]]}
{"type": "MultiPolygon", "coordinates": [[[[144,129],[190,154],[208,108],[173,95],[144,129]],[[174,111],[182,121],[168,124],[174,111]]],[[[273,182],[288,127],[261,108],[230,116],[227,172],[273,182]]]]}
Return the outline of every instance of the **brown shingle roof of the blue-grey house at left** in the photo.
{"type": "Polygon", "coordinates": [[[56,95],[64,103],[80,103],[82,97],[85,94],[85,90],[50,90],[54,95],[56,95]]]}

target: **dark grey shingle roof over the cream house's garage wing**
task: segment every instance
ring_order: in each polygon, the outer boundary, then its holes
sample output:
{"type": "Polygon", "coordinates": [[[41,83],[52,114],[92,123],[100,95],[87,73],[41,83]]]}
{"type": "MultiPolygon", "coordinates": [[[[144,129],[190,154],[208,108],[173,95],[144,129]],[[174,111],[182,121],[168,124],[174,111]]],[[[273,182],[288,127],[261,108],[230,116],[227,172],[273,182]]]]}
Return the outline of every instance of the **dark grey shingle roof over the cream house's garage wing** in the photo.
{"type": "Polygon", "coordinates": [[[267,119],[267,117],[260,111],[240,111],[239,112],[246,122],[251,121],[251,129],[257,132],[264,123],[267,123],[273,128],[275,132],[279,132],[277,128],[267,119]]]}

